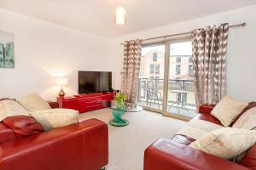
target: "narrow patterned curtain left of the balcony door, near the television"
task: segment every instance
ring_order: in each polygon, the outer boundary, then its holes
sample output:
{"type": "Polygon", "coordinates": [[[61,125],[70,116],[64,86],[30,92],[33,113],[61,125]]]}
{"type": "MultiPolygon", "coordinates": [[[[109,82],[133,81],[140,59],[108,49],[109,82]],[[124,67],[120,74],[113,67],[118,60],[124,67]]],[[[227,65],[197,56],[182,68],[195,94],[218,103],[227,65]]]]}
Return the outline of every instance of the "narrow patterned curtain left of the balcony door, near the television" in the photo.
{"type": "Polygon", "coordinates": [[[134,106],[137,99],[137,86],[141,65],[142,44],[140,40],[124,43],[125,59],[122,71],[121,91],[127,96],[127,106],[134,106]]]}

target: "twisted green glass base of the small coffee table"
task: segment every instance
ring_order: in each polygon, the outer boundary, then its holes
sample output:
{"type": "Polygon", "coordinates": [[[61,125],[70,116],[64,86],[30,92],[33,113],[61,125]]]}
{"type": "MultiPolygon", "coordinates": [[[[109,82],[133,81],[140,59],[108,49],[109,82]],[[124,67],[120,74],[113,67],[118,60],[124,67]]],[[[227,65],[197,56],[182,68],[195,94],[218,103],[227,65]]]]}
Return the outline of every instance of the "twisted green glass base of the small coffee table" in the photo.
{"type": "Polygon", "coordinates": [[[125,110],[112,110],[113,119],[109,121],[109,124],[114,127],[125,127],[129,124],[129,121],[122,118],[125,110]]]}

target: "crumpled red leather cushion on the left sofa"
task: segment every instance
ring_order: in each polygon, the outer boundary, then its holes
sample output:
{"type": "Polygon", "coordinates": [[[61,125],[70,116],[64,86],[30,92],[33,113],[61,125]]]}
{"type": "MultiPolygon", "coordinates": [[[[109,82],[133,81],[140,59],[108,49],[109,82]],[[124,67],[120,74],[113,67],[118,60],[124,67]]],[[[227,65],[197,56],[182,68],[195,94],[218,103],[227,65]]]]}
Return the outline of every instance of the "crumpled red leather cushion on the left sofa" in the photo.
{"type": "Polygon", "coordinates": [[[44,128],[31,116],[10,116],[3,123],[15,131],[17,137],[44,132],[44,128]]]}

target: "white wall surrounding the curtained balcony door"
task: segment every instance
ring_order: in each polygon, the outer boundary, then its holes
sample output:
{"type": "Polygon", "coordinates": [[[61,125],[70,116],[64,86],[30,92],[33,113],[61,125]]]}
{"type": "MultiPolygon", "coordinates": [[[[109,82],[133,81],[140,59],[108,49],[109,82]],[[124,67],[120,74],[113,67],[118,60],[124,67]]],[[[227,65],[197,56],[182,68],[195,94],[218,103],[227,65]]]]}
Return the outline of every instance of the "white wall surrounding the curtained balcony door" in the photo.
{"type": "Polygon", "coordinates": [[[247,26],[245,27],[230,28],[227,54],[227,93],[237,99],[256,101],[255,11],[256,5],[113,39],[111,45],[113,49],[113,62],[116,65],[114,71],[116,81],[120,81],[119,73],[122,69],[123,62],[123,47],[120,45],[120,42],[136,38],[182,33],[206,26],[218,26],[224,22],[229,22],[230,24],[246,22],[247,26]]]}

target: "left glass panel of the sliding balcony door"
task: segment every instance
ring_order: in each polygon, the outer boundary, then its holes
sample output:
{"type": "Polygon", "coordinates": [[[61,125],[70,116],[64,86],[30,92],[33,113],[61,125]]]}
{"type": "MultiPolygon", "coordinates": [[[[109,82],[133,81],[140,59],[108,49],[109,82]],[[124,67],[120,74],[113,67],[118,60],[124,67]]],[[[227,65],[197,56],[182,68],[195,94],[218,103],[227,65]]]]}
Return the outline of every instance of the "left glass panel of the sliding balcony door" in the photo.
{"type": "Polygon", "coordinates": [[[143,47],[137,101],[139,105],[162,111],[164,93],[165,45],[143,47]]]}

